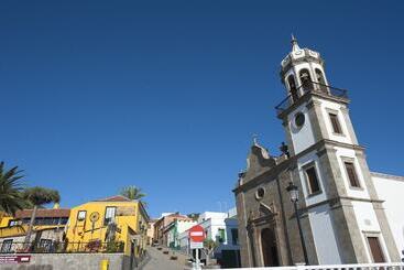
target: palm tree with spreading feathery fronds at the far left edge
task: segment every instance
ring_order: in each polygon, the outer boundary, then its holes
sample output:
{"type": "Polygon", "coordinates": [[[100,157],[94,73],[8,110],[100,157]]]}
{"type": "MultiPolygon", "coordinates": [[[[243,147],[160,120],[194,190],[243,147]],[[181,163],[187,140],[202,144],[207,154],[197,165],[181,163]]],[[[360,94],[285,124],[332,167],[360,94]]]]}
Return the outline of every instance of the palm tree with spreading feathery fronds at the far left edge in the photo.
{"type": "Polygon", "coordinates": [[[25,205],[24,198],[21,196],[23,186],[21,174],[18,166],[4,170],[4,162],[0,162],[0,210],[10,215],[14,215],[15,210],[22,209],[25,205]]]}

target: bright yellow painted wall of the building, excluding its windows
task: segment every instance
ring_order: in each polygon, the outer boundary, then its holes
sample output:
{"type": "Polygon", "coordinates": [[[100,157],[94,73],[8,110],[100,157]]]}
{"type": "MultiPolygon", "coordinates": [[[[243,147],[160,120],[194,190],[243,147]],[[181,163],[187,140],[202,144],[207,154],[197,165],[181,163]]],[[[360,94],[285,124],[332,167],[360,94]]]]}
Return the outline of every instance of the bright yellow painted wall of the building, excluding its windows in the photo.
{"type": "Polygon", "coordinates": [[[70,210],[70,217],[67,225],[66,237],[68,247],[74,249],[74,246],[87,244],[94,240],[106,241],[107,225],[105,225],[106,207],[117,207],[114,222],[118,227],[116,233],[116,241],[124,242],[124,253],[130,255],[131,239],[133,236],[129,231],[134,231],[135,235],[142,235],[139,228],[139,220],[148,219],[148,216],[141,208],[141,204],[137,201],[132,202],[89,202],[70,210]],[[86,210],[86,218],[78,220],[78,212],[86,210]],[[98,220],[91,222],[90,215],[98,213],[98,220]]]}

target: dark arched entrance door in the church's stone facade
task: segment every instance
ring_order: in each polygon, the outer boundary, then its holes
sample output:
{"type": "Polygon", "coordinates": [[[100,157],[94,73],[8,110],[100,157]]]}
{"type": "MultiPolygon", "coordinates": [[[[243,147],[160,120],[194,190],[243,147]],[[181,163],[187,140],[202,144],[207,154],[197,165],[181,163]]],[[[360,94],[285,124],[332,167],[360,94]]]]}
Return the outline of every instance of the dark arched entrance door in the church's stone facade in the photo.
{"type": "Polygon", "coordinates": [[[276,238],[273,229],[264,228],[261,231],[262,257],[265,267],[279,267],[276,238]]]}

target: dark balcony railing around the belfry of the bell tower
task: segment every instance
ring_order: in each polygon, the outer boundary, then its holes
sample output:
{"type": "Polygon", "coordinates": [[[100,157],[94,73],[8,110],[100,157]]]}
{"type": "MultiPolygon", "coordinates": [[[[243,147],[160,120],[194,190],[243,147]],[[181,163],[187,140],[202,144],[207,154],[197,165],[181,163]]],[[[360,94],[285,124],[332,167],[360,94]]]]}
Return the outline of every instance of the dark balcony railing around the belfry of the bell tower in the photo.
{"type": "Polygon", "coordinates": [[[290,108],[297,99],[307,93],[317,93],[336,98],[348,98],[346,89],[336,88],[317,82],[306,82],[296,89],[295,95],[288,95],[275,107],[277,115],[290,108]]]}

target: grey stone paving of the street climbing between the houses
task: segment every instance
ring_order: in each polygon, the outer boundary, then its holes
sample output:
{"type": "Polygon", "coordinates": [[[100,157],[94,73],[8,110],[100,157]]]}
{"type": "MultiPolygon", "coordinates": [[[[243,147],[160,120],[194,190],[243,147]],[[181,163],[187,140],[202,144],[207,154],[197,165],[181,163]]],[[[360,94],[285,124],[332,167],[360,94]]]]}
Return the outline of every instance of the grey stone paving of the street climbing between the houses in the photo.
{"type": "Polygon", "coordinates": [[[170,255],[165,255],[162,250],[154,247],[148,249],[150,258],[142,270],[184,270],[189,269],[182,260],[170,260],[170,255]]]}

